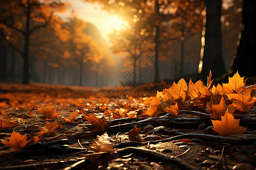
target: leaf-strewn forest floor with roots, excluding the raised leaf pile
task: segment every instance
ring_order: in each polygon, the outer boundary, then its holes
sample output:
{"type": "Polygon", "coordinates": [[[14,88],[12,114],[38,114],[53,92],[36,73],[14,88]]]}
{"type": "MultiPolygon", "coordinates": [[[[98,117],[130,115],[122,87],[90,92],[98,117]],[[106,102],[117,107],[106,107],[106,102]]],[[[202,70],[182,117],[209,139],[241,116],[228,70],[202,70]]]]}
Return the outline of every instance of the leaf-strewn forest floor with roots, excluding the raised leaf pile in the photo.
{"type": "Polygon", "coordinates": [[[255,169],[255,109],[240,116],[248,128],[234,137],[213,131],[199,111],[145,116],[145,101],[170,86],[0,83],[2,143],[13,140],[13,131],[36,141],[16,150],[0,143],[0,169],[255,169]],[[49,114],[60,113],[47,118],[42,114],[47,107],[49,114]]]}

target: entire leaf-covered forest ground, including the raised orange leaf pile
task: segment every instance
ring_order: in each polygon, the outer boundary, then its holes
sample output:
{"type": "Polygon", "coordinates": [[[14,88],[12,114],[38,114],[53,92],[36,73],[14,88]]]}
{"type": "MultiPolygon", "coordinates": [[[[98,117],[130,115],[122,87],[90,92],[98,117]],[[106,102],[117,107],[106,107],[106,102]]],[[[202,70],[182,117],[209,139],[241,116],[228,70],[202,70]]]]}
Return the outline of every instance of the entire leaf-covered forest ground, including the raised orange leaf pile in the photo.
{"type": "Polygon", "coordinates": [[[254,169],[255,89],[2,83],[0,169],[254,169]]]}

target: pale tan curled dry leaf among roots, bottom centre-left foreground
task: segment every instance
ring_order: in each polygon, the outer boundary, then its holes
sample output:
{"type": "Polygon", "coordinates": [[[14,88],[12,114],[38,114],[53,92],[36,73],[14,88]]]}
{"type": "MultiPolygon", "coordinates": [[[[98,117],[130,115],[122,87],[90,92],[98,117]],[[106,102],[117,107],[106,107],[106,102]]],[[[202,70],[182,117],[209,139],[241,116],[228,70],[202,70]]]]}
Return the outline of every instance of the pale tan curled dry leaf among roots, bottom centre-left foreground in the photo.
{"type": "Polygon", "coordinates": [[[107,133],[101,136],[97,135],[97,139],[93,139],[90,148],[95,152],[114,152],[114,145],[109,141],[110,137],[107,133]]]}

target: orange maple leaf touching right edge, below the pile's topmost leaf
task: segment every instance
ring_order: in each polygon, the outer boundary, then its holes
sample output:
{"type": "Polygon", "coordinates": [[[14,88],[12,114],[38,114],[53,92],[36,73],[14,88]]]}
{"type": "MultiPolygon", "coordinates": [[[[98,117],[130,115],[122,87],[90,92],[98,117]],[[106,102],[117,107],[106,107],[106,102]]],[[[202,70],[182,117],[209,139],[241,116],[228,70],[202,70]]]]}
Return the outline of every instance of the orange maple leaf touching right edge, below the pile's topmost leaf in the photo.
{"type": "Polygon", "coordinates": [[[238,111],[247,111],[250,107],[253,107],[255,98],[251,98],[251,90],[244,90],[247,92],[240,94],[227,94],[229,100],[233,101],[233,107],[238,111]]]}

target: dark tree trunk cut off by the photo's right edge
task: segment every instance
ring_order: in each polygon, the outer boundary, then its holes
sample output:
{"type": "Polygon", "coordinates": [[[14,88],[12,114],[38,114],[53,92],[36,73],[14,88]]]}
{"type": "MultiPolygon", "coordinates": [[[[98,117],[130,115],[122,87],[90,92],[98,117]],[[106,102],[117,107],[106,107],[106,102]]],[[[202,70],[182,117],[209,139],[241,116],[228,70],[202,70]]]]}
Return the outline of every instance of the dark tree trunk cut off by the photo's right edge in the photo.
{"type": "MultiPolygon", "coordinates": [[[[237,71],[241,76],[256,75],[256,1],[244,0],[242,11],[242,30],[237,54],[234,56],[228,76],[237,71]]],[[[228,79],[226,76],[226,79],[228,79]]]]}

